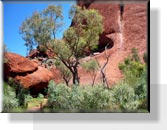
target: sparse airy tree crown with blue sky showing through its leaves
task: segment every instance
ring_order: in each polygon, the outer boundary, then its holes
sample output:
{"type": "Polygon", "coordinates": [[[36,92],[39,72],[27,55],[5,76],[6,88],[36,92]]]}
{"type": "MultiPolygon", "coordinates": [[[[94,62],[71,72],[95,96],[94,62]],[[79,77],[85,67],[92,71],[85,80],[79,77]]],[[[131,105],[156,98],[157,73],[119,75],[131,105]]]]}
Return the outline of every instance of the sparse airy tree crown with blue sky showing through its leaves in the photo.
{"type": "Polygon", "coordinates": [[[34,46],[45,45],[54,39],[62,25],[62,19],[62,8],[52,5],[41,12],[34,12],[31,17],[25,19],[20,26],[20,34],[27,49],[31,51],[34,46]]]}

